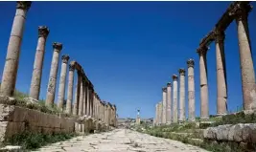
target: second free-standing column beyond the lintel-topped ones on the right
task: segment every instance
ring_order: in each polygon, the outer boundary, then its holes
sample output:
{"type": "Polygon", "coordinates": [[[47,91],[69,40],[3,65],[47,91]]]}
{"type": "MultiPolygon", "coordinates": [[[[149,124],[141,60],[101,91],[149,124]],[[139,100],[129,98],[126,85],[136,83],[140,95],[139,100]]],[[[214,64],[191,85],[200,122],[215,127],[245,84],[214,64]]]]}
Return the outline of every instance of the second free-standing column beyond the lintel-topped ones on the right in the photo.
{"type": "Polygon", "coordinates": [[[186,107],[185,107],[185,69],[179,69],[179,119],[182,123],[186,120],[186,107]]]}

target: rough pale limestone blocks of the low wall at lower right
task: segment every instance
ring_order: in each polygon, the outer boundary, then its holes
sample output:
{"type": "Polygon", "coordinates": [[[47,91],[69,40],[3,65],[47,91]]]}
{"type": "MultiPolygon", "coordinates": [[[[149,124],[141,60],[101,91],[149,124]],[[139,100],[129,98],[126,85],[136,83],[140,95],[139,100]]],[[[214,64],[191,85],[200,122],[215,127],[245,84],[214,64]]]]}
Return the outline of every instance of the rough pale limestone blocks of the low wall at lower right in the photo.
{"type": "Polygon", "coordinates": [[[203,138],[213,141],[256,143],[256,123],[225,124],[204,130],[203,138]]]}

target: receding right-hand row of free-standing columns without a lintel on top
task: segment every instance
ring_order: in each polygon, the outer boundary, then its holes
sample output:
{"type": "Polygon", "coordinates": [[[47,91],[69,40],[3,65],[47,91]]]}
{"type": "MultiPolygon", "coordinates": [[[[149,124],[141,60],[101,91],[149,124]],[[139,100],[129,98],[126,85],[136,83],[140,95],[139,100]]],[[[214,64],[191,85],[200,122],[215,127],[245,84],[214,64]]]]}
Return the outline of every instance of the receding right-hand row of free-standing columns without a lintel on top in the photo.
{"type": "MultiPolygon", "coordinates": [[[[194,60],[187,61],[188,66],[188,95],[189,95],[189,120],[195,121],[195,80],[194,80],[194,60]]],[[[173,75],[173,88],[172,83],[168,82],[167,87],[162,88],[163,98],[162,101],[155,105],[155,124],[165,125],[171,123],[182,123],[186,120],[185,109],[185,69],[179,69],[179,99],[178,97],[178,76],[173,75]],[[173,89],[173,92],[172,92],[173,89]],[[172,98],[173,97],[173,98],[172,98]],[[178,107],[179,100],[179,109],[178,107]],[[179,115],[178,115],[179,113],[179,115]]]]}

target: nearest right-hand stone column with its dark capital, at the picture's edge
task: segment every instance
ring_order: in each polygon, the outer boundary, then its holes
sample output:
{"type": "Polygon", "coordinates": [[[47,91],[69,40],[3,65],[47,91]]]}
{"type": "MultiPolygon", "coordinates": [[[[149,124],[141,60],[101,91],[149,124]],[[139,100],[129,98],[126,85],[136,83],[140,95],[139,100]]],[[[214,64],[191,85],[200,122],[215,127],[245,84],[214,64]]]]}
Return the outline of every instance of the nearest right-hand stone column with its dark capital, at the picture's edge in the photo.
{"type": "Polygon", "coordinates": [[[236,10],[231,12],[237,22],[244,110],[256,109],[255,72],[247,22],[251,9],[250,4],[237,5],[236,10]]]}

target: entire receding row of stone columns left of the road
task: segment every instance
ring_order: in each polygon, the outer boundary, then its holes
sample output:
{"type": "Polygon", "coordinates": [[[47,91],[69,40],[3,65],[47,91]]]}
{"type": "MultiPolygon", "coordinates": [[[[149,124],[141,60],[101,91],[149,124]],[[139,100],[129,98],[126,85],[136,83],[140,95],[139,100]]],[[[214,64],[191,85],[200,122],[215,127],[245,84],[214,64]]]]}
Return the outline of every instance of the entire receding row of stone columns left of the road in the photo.
{"type": "MultiPolygon", "coordinates": [[[[21,40],[25,27],[25,20],[27,11],[29,11],[32,2],[20,1],[16,5],[16,13],[13,19],[12,32],[8,45],[7,57],[2,77],[0,94],[1,96],[12,97],[15,89],[15,82],[18,70],[18,61],[21,47],[21,40]]],[[[40,95],[40,85],[42,76],[42,67],[45,54],[45,45],[50,30],[46,26],[38,27],[38,39],[35,51],[35,62],[33,75],[30,87],[30,98],[38,101],[40,95]]],[[[46,105],[53,106],[56,95],[56,84],[58,76],[58,61],[59,54],[62,50],[62,44],[59,42],[53,43],[53,57],[49,75],[49,82],[47,86],[46,105]]],[[[109,102],[104,103],[95,93],[93,85],[87,79],[81,65],[72,61],[68,66],[69,55],[63,54],[61,56],[61,71],[58,86],[58,108],[67,114],[74,116],[88,116],[94,119],[102,120],[108,125],[116,125],[116,106],[109,102]],[[68,91],[66,107],[64,107],[65,98],[65,82],[67,68],[68,72],[68,91]],[[76,85],[76,93],[73,102],[74,89],[74,71],[77,70],[78,82],[76,85]],[[73,110],[73,112],[72,112],[73,110]]]]}

